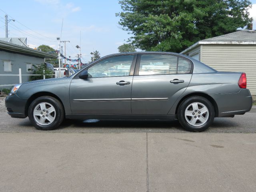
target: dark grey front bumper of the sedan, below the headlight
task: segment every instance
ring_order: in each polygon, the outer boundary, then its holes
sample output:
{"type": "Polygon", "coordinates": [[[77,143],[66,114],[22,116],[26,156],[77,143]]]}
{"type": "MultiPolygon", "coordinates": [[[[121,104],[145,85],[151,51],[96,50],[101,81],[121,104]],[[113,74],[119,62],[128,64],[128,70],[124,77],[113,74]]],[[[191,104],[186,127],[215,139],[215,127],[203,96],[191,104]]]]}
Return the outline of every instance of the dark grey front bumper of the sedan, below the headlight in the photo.
{"type": "Polygon", "coordinates": [[[27,99],[20,98],[16,94],[10,94],[5,99],[7,113],[13,118],[26,118],[25,112],[27,99]]]}

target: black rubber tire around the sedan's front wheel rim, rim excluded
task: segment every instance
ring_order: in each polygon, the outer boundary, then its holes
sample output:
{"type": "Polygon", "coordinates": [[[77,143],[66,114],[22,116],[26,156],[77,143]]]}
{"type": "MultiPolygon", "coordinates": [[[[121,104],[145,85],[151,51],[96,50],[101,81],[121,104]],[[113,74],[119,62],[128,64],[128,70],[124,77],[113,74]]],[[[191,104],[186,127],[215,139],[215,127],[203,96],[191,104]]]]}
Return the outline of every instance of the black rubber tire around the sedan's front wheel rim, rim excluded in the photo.
{"type": "Polygon", "coordinates": [[[42,97],[36,98],[30,104],[30,106],[28,108],[28,118],[29,118],[30,122],[37,129],[40,129],[40,130],[53,130],[53,129],[58,128],[58,126],[60,126],[60,124],[64,120],[64,116],[65,116],[65,111],[64,111],[64,107],[62,106],[62,103],[59,100],[57,100],[56,98],[50,97],[50,96],[42,96],[42,97]],[[35,120],[36,117],[34,117],[34,115],[33,115],[35,107],[38,106],[38,104],[43,103],[43,102],[46,102],[46,103],[52,105],[55,109],[55,112],[54,112],[55,119],[52,122],[49,122],[49,124],[47,124],[47,125],[39,124],[35,120]]]}

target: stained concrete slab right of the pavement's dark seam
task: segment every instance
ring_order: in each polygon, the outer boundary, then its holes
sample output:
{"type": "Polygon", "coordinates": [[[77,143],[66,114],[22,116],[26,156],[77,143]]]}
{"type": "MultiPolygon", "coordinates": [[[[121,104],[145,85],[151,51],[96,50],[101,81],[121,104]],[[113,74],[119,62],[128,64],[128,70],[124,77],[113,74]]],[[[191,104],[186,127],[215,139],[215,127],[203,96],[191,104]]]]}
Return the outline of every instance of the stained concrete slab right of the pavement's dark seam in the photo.
{"type": "Polygon", "coordinates": [[[256,191],[256,134],[148,134],[150,191],[256,191]]]}

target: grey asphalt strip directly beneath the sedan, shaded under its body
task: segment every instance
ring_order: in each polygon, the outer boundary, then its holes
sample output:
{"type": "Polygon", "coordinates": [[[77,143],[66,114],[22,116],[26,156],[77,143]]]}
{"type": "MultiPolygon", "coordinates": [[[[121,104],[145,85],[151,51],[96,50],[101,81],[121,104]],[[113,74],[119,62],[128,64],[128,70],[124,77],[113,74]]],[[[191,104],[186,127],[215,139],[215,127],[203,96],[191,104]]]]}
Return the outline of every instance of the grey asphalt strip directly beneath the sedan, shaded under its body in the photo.
{"type": "MultiPolygon", "coordinates": [[[[28,118],[11,118],[0,111],[0,132],[42,132],[36,130],[28,118]]],[[[120,132],[186,132],[177,120],[65,120],[57,133],[120,133],[120,132]]],[[[215,118],[214,123],[204,133],[256,133],[256,106],[244,115],[234,118],[215,118]]]]}

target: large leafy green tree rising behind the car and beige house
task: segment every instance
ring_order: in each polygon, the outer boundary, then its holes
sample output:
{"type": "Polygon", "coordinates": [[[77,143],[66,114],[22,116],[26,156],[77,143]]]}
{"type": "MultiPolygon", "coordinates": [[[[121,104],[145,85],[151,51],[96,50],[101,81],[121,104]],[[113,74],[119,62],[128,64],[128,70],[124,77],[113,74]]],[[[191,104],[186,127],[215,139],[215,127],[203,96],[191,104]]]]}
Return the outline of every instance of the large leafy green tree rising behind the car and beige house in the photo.
{"type": "Polygon", "coordinates": [[[147,51],[180,52],[252,22],[249,0],[119,0],[119,24],[147,51]]]}

